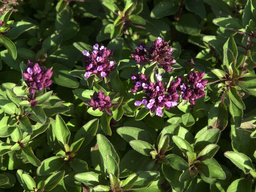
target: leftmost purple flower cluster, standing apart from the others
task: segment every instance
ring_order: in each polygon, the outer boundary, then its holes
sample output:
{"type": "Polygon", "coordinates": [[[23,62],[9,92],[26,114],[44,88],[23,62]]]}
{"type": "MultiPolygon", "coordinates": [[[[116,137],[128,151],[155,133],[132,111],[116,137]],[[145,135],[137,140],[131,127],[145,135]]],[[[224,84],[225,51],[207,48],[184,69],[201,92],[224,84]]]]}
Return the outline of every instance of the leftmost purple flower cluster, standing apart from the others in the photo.
{"type": "Polygon", "coordinates": [[[29,93],[33,95],[35,90],[49,89],[49,86],[53,82],[50,79],[53,74],[52,68],[44,69],[39,67],[38,63],[33,64],[30,60],[27,61],[27,67],[23,73],[23,77],[29,87],[29,93]]]}

